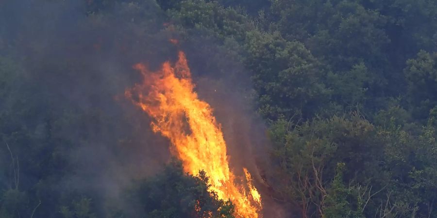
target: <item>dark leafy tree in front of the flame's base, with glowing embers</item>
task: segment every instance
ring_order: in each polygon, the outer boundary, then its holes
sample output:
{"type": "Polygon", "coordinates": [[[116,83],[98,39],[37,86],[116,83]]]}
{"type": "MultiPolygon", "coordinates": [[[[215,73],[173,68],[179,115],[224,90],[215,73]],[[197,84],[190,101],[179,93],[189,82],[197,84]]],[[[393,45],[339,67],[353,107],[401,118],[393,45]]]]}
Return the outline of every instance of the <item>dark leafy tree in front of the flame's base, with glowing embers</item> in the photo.
{"type": "Polygon", "coordinates": [[[151,218],[233,218],[234,206],[218,200],[208,191],[208,177],[204,171],[192,176],[183,172],[180,161],[173,160],[162,172],[140,181],[130,191],[130,199],[139,212],[151,218]]]}

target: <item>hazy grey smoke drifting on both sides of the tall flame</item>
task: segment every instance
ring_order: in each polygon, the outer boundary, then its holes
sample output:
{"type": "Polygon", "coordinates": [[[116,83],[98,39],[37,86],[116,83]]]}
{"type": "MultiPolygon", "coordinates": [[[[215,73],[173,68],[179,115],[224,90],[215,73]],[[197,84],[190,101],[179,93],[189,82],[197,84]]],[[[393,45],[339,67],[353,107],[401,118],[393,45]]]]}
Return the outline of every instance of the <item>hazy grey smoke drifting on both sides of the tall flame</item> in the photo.
{"type": "Polygon", "coordinates": [[[233,61],[235,54],[202,37],[172,45],[168,40],[177,34],[164,25],[165,13],[154,0],[115,3],[106,13],[88,6],[78,0],[0,1],[0,55],[24,67],[28,81],[44,93],[45,109],[62,118],[52,134],[71,146],[75,173],[57,188],[98,192],[112,201],[132,179],[168,162],[168,141],[122,94],[141,79],[135,63],[156,69],[183,49],[196,91],[221,124],[231,167],[247,167],[256,187],[268,192],[262,177],[269,176],[269,141],[253,111],[249,75],[233,61]]]}

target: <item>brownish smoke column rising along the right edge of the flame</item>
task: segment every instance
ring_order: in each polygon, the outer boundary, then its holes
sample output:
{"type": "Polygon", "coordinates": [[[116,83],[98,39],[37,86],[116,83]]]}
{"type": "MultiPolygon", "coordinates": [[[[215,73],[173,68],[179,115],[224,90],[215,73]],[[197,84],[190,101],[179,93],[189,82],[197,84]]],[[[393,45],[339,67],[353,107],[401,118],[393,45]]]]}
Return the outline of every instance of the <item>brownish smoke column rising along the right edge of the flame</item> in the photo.
{"type": "Polygon", "coordinates": [[[183,45],[188,65],[195,78],[199,97],[214,109],[227,143],[228,156],[234,173],[243,176],[248,168],[263,197],[263,217],[291,217],[273,198],[269,181],[273,167],[270,162],[271,144],[267,126],[254,108],[256,93],[248,71],[237,62],[237,53],[229,47],[200,36],[188,39],[183,45]]]}

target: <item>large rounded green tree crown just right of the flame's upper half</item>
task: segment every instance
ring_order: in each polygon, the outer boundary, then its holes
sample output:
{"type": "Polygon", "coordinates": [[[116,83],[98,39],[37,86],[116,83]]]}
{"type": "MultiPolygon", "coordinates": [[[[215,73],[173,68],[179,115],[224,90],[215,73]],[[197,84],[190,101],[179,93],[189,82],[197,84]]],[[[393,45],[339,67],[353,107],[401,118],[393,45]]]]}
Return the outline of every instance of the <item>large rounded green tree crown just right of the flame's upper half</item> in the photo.
{"type": "Polygon", "coordinates": [[[319,62],[302,43],[287,42],[278,32],[252,31],[246,51],[245,62],[253,71],[260,112],[266,118],[308,119],[329,97],[320,81],[319,62]]]}

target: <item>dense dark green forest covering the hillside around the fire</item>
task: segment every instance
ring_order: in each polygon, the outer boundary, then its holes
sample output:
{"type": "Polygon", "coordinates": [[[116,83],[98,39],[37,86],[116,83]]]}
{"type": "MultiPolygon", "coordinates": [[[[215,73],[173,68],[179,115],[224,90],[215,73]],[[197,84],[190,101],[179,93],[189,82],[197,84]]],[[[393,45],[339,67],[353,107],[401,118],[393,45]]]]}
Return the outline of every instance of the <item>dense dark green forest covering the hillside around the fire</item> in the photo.
{"type": "Polygon", "coordinates": [[[125,152],[114,165],[134,167],[124,150],[144,143],[149,122],[108,109],[132,82],[100,81],[110,67],[95,62],[124,64],[114,71],[144,57],[159,63],[174,48],[148,42],[168,35],[189,60],[208,53],[211,62],[193,71],[215,69],[209,77],[253,100],[272,144],[270,194],[292,208],[287,216],[437,218],[437,1],[83,0],[74,12],[64,4],[0,2],[1,218],[232,217],[232,202],[207,192],[207,175],[185,175],[174,161],[135,177],[123,200],[96,185],[96,171],[111,168],[98,157],[107,150],[125,152]],[[63,31],[39,33],[52,28],[63,31]],[[246,76],[251,89],[235,79],[246,76]]]}

